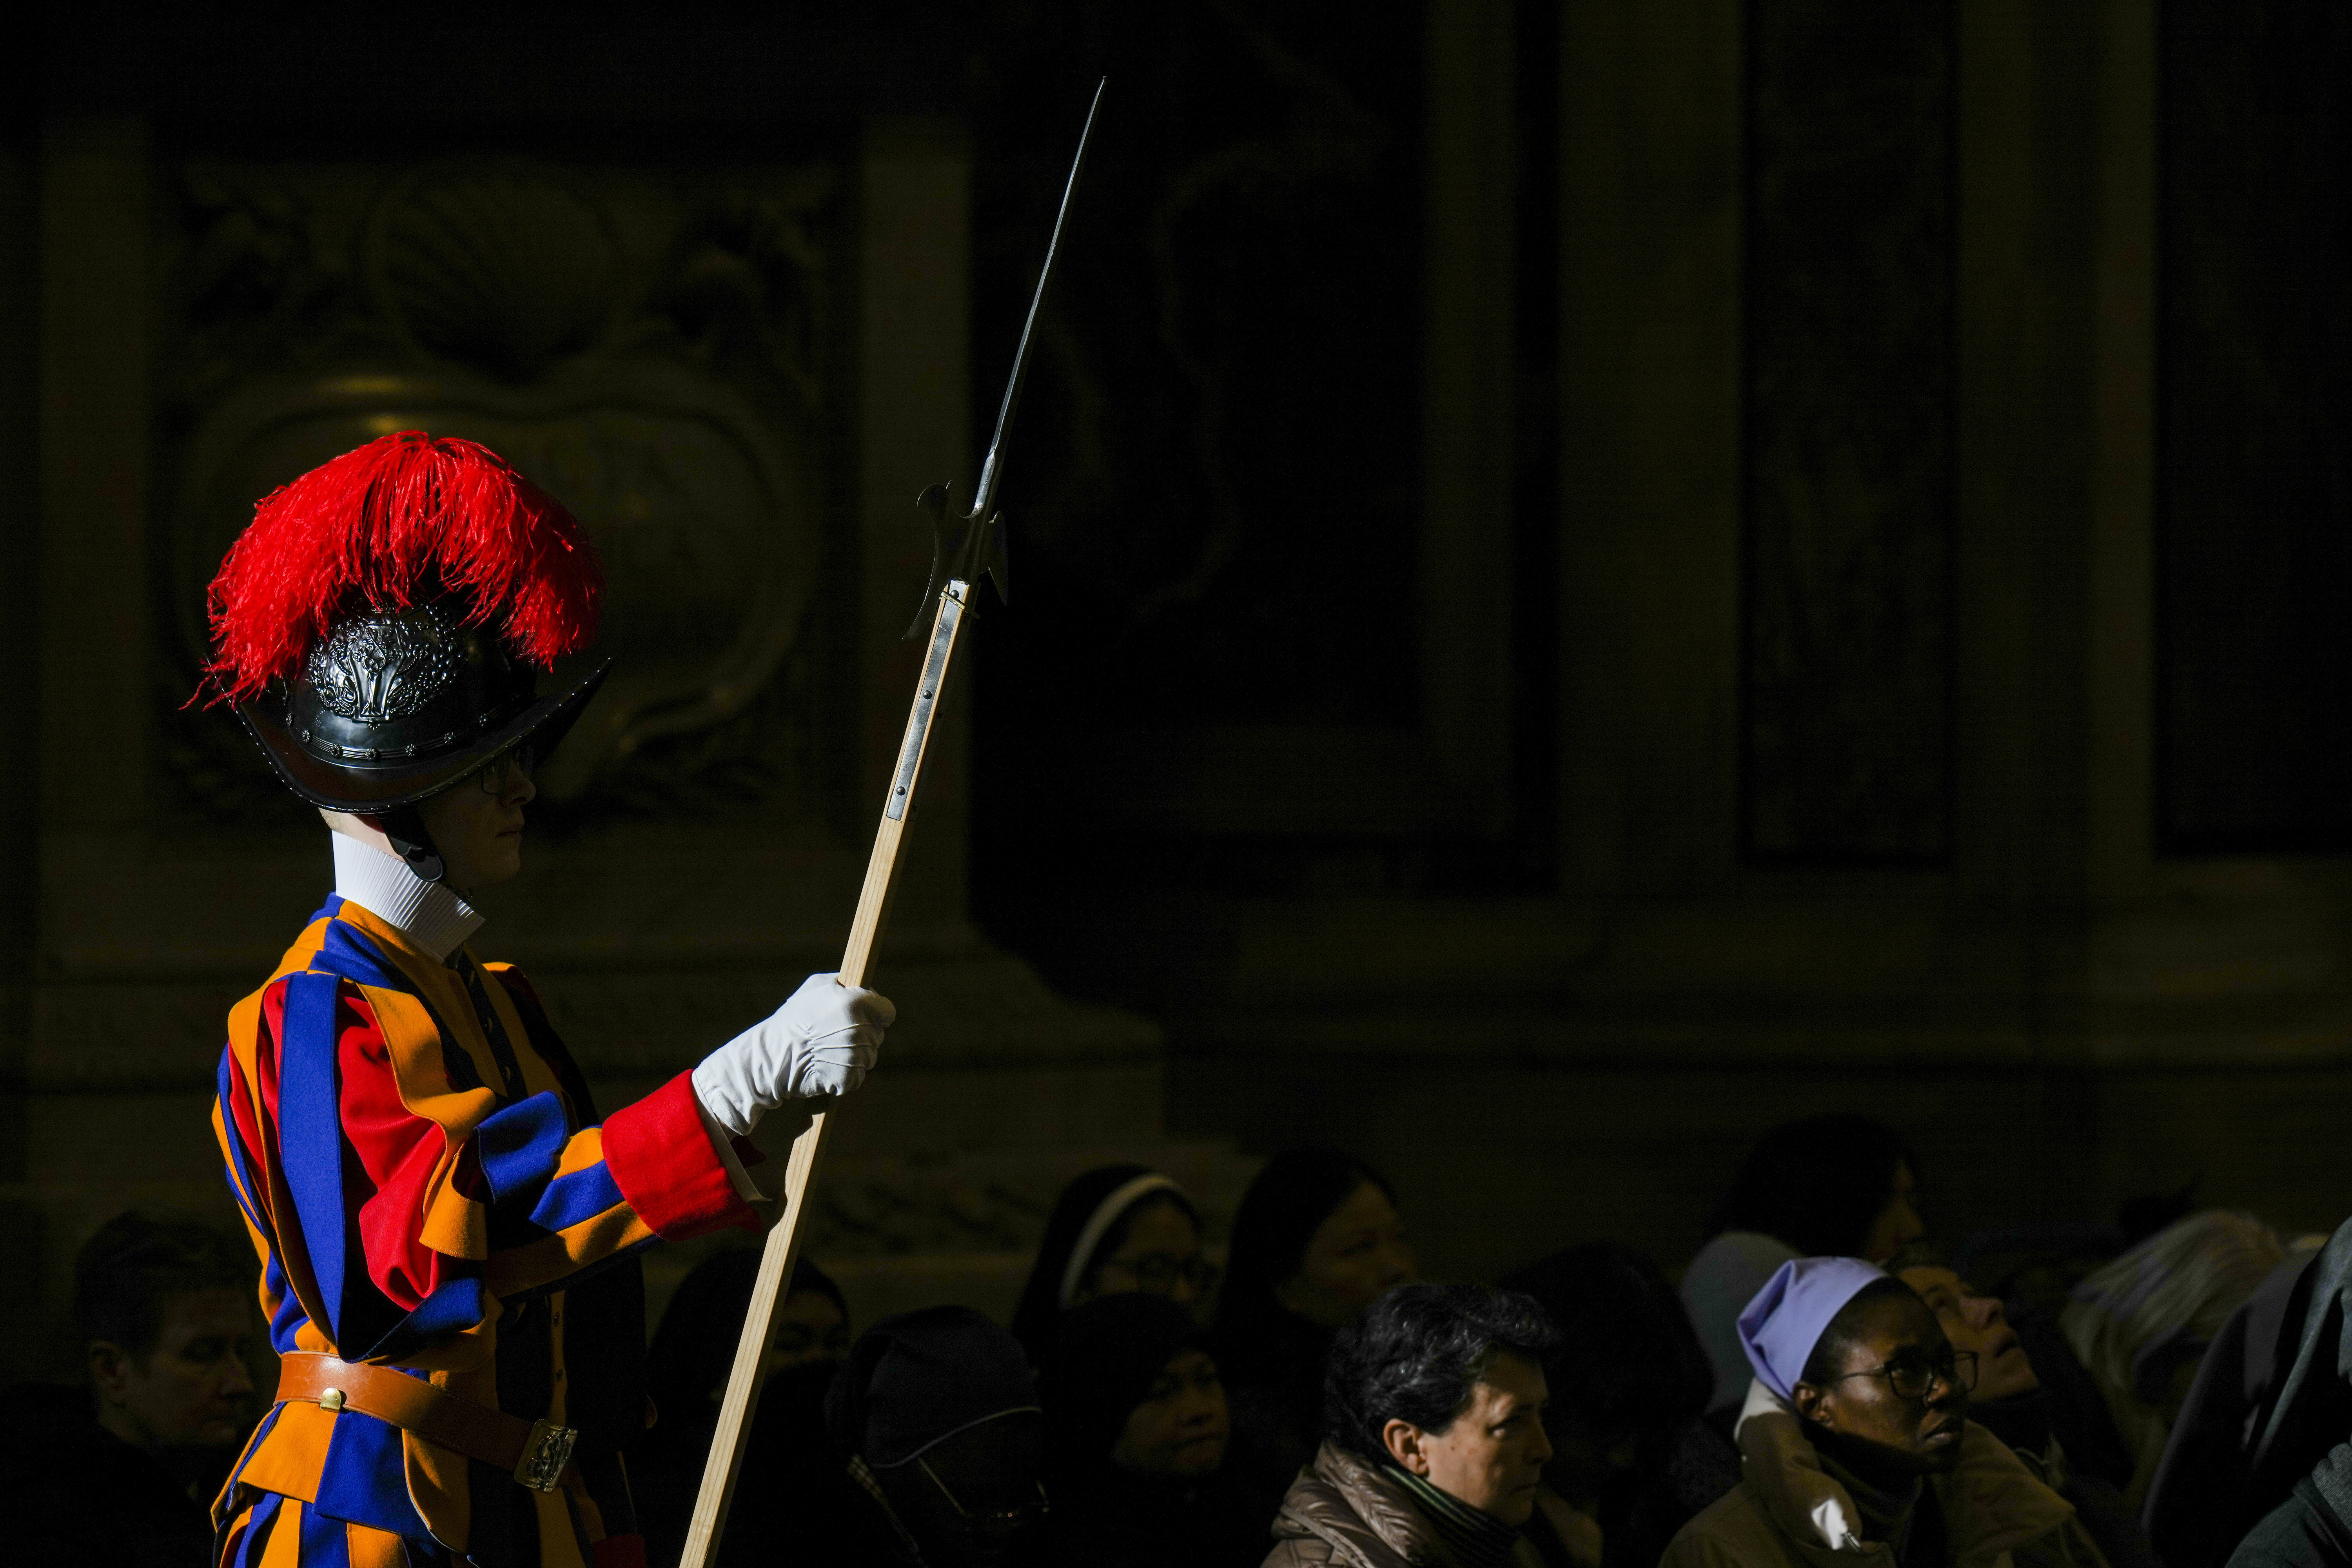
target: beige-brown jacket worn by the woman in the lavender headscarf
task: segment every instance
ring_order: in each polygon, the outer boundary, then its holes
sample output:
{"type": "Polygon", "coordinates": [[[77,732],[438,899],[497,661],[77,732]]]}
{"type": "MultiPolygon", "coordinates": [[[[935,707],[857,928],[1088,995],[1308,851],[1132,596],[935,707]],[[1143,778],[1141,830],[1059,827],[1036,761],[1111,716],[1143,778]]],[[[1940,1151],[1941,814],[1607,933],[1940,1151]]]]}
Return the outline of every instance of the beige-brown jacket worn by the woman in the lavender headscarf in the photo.
{"type": "MultiPolygon", "coordinates": [[[[1896,1568],[1891,1547],[1856,1533],[1853,1497],[1823,1474],[1797,1413],[1762,1382],[1748,1389],[1738,1441],[1740,1483],[1682,1526],[1661,1568],[1896,1568]]],[[[2074,1505],[1976,1422],[1962,1432],[1959,1469],[1929,1486],[1952,1568],[2107,1568],[2074,1505]]]]}

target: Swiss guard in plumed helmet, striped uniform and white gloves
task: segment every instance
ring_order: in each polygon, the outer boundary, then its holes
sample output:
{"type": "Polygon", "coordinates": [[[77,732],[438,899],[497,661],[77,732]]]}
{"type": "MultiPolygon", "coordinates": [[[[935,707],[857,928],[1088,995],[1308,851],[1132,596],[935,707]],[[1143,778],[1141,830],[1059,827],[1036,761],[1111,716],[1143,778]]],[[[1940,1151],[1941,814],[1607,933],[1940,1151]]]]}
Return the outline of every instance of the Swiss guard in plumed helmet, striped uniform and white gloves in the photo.
{"type": "Polygon", "coordinates": [[[228,1016],[214,1128],[261,1255],[278,1399],[214,1505],[235,1568],[644,1561],[637,1251],[755,1227],[743,1140],[875,1065],[889,1001],[809,976],[604,1114],[477,889],[604,670],[569,512],[407,430],[275,491],[212,583],[216,701],[332,830],[334,893],[228,1016]]]}

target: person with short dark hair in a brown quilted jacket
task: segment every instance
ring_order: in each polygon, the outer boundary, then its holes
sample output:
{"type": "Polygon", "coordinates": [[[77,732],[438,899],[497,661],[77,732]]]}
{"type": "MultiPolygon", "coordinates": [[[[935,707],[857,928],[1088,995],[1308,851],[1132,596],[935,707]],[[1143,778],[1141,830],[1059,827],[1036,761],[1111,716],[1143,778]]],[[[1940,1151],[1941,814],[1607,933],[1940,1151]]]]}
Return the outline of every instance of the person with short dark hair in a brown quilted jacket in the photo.
{"type": "Polygon", "coordinates": [[[1484,1286],[1397,1286],[1338,1331],[1324,1446],[1275,1516],[1265,1568],[1536,1568],[1519,1533],[1552,1443],[1550,1319],[1484,1286]]]}

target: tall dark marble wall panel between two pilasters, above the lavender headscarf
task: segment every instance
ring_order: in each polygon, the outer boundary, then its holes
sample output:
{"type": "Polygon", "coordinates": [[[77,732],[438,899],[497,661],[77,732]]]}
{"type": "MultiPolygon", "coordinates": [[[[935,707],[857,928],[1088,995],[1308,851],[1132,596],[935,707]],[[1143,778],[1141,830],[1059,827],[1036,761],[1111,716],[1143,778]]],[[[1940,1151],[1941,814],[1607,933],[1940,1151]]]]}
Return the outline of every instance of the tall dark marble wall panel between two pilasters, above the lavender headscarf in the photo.
{"type": "Polygon", "coordinates": [[[1743,849],[1933,863],[1952,776],[1952,7],[1748,7],[1743,849]]]}

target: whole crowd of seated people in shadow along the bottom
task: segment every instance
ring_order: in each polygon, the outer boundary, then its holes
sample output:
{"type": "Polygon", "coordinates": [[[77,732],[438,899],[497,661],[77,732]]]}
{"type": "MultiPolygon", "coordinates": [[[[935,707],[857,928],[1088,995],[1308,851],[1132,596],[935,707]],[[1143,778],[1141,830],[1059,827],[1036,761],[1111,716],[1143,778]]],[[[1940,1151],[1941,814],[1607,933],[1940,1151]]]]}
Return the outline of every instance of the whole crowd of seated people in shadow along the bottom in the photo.
{"type": "MultiPolygon", "coordinates": [[[[1592,1241],[1486,1286],[1421,1281],[1406,1197],[1331,1150],[1265,1161],[1221,1267],[1176,1180],[1105,1166],[1009,1326],[858,1331],[802,1262],[717,1561],[2352,1563],[2352,1225],[2286,1244],[2183,1197],[1945,1251],[1919,1175],[1893,1131],[1813,1117],[1672,1274],[1592,1241]]],[[[649,1563],[682,1549],[753,1272],[708,1258],[652,1335],[621,1455],[649,1563]]],[[[209,1561],[259,1415],[249,1255],[120,1215],[75,1319],[87,1387],[0,1396],[12,1561],[209,1561]]]]}

